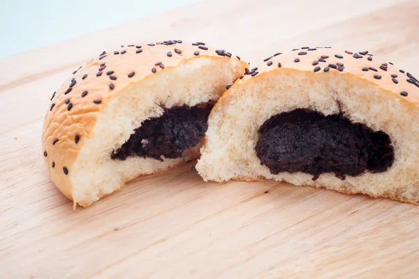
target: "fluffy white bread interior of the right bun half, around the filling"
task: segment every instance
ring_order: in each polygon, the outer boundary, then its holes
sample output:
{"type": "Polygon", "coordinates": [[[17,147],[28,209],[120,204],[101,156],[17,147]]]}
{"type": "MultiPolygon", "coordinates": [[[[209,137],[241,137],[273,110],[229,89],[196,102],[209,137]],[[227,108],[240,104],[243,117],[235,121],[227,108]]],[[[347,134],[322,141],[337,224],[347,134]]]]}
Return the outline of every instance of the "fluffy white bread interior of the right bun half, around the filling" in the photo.
{"type": "Polygon", "coordinates": [[[260,73],[245,84],[233,85],[212,110],[208,123],[205,146],[196,165],[205,181],[266,178],[419,202],[419,110],[369,80],[337,70],[314,73],[283,68],[272,75],[260,73]],[[325,115],[342,112],[353,123],[382,130],[394,146],[393,165],[385,172],[346,176],[344,181],[331,173],[321,174],[316,181],[313,175],[302,172],[271,174],[254,150],[258,129],[271,116],[297,108],[325,115]]]}

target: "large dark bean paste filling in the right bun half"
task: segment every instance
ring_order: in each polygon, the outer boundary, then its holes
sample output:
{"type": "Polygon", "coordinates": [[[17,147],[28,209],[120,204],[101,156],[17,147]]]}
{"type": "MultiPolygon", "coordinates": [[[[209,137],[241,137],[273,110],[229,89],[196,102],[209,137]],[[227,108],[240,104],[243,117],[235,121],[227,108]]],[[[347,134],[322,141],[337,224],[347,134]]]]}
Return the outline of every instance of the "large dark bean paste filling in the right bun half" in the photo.
{"type": "Polygon", "coordinates": [[[341,114],[293,110],[272,116],[258,130],[256,153],[272,174],[326,172],[339,179],[366,171],[385,172],[394,162],[390,137],[341,114]]]}

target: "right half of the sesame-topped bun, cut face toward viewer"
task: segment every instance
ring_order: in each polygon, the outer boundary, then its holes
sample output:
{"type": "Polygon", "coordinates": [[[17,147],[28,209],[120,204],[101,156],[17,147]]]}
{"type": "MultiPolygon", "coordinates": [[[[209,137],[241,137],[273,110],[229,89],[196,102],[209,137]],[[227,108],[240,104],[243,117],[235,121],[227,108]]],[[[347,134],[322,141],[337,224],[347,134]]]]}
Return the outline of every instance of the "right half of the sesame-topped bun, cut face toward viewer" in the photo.
{"type": "Polygon", "coordinates": [[[208,119],[205,181],[274,179],[419,202],[419,81],[369,52],[303,47],[246,70],[208,119]]]}

